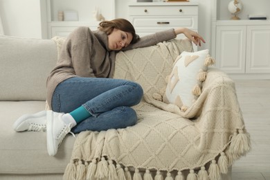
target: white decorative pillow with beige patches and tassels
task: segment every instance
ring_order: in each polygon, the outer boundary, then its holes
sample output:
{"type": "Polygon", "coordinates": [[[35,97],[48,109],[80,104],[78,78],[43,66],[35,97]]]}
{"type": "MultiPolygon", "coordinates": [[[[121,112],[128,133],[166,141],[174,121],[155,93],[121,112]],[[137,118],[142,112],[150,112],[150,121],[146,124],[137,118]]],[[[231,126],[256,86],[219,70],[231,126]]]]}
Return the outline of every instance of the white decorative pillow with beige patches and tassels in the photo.
{"type": "Polygon", "coordinates": [[[163,101],[186,111],[200,96],[208,65],[214,63],[208,49],[194,53],[183,51],[174,62],[163,101]]]}

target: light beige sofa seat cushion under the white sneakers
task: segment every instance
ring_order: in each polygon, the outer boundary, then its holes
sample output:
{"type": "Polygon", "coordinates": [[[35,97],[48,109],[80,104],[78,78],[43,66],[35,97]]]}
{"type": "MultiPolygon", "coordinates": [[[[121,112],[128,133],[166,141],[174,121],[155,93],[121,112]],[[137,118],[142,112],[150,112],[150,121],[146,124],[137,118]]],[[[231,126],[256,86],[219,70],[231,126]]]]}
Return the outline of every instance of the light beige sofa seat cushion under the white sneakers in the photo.
{"type": "Polygon", "coordinates": [[[1,112],[4,112],[0,114],[0,174],[64,172],[73,150],[73,136],[67,135],[56,156],[48,156],[46,132],[15,132],[12,129],[19,116],[42,111],[44,105],[44,101],[0,101],[1,112]]]}

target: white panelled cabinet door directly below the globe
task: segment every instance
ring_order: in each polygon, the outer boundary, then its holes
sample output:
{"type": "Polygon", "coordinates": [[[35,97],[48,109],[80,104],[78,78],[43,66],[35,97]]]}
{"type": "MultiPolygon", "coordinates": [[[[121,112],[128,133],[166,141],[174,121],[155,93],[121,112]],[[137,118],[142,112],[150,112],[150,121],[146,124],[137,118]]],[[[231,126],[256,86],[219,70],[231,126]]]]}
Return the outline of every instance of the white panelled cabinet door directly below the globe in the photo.
{"type": "Polygon", "coordinates": [[[244,73],[246,26],[217,26],[216,64],[226,73],[244,73]]]}

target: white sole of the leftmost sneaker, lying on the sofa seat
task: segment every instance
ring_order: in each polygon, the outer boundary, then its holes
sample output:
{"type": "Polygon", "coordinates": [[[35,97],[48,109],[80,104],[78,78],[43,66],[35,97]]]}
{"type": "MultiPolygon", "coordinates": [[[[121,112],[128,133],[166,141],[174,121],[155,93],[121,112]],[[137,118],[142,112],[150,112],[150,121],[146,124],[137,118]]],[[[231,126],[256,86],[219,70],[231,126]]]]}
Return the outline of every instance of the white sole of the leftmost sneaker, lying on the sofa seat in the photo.
{"type": "Polygon", "coordinates": [[[44,118],[44,116],[46,116],[46,111],[40,111],[36,114],[25,114],[24,116],[19,117],[15,123],[13,124],[13,129],[15,130],[15,132],[24,132],[27,129],[23,129],[23,130],[19,130],[22,123],[24,123],[25,120],[29,119],[29,118],[44,118]]]}

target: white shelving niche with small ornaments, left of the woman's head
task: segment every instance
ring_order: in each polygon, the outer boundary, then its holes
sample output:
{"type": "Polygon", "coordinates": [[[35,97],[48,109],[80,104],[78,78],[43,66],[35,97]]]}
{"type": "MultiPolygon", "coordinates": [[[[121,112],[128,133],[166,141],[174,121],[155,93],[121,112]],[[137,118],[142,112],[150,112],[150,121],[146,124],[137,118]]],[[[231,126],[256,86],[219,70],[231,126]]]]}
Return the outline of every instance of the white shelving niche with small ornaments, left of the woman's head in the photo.
{"type": "Polygon", "coordinates": [[[66,37],[79,26],[87,26],[96,30],[100,21],[96,21],[96,8],[105,20],[115,18],[115,0],[46,0],[48,19],[48,38],[54,36],[66,37]],[[106,6],[105,6],[106,4],[106,6]],[[78,21],[58,21],[59,11],[74,11],[78,13],[78,21]]]}

